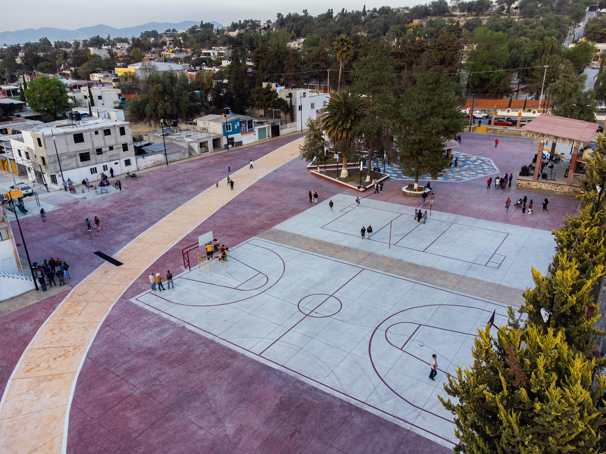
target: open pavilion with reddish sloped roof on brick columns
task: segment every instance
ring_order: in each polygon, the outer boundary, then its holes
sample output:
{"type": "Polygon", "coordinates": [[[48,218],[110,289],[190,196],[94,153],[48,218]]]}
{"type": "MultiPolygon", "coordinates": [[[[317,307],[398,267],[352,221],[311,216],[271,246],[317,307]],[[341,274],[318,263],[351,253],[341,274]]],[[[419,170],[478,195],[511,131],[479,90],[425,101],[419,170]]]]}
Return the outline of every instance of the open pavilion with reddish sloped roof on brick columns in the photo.
{"type": "Polygon", "coordinates": [[[521,131],[522,137],[539,140],[539,148],[537,151],[537,161],[534,168],[533,180],[539,179],[541,173],[541,157],[545,143],[551,142],[551,154],[556,150],[556,143],[570,145],[573,147],[570,157],[570,168],[566,178],[567,185],[578,183],[581,175],[578,173],[581,162],[584,162],[582,150],[587,143],[596,135],[598,131],[598,123],[585,122],[583,120],[575,120],[571,118],[558,117],[551,114],[541,114],[531,122],[528,122],[521,131]]]}

